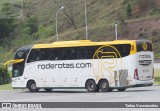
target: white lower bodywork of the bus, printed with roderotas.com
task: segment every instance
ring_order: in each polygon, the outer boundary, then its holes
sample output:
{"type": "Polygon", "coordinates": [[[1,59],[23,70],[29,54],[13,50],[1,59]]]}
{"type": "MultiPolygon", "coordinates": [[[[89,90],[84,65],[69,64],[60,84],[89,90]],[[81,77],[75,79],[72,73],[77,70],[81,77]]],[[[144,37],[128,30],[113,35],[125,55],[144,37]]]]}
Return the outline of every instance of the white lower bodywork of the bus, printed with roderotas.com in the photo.
{"type": "Polygon", "coordinates": [[[152,84],[154,81],[152,78],[146,79],[148,76],[152,76],[151,71],[153,71],[153,53],[151,52],[141,52],[117,59],[36,61],[25,64],[23,75],[13,78],[12,86],[26,88],[27,82],[34,80],[39,88],[78,88],[85,87],[88,79],[94,79],[98,84],[101,78],[106,78],[110,87],[125,87],[137,84],[152,84]],[[140,66],[138,64],[139,60],[146,59],[139,58],[143,54],[151,55],[151,58],[147,58],[147,60],[152,61],[150,65],[140,66]],[[79,65],[77,66],[77,64],[79,65]],[[135,69],[139,71],[140,80],[134,79],[135,69]],[[148,73],[143,73],[141,69],[148,71],[148,73]]]}

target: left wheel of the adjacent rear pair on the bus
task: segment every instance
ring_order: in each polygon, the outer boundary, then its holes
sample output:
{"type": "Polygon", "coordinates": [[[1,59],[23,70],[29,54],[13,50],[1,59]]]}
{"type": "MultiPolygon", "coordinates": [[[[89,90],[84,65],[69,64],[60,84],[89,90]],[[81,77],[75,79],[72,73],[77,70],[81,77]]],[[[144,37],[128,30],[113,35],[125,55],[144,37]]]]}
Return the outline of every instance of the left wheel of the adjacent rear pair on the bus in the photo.
{"type": "Polygon", "coordinates": [[[97,91],[97,85],[94,80],[88,80],[86,83],[86,89],[88,92],[96,92],[97,91]]]}

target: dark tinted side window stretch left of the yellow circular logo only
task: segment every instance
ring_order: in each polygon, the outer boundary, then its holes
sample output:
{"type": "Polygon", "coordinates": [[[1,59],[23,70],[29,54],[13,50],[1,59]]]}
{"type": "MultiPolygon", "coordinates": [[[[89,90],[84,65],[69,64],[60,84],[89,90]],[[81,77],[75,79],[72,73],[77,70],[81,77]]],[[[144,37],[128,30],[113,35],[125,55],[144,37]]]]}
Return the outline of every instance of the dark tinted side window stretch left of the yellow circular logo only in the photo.
{"type": "Polygon", "coordinates": [[[40,60],[92,59],[98,47],[33,49],[27,63],[40,60]]]}

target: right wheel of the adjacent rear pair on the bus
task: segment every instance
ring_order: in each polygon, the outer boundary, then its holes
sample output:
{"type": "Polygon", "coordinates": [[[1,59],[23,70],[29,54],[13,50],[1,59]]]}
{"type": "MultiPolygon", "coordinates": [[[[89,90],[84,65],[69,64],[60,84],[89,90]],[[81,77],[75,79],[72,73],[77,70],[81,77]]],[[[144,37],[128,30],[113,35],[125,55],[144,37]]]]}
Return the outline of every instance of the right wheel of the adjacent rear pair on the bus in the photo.
{"type": "Polygon", "coordinates": [[[99,83],[99,88],[102,92],[108,92],[109,91],[109,83],[107,80],[101,80],[99,83]]]}

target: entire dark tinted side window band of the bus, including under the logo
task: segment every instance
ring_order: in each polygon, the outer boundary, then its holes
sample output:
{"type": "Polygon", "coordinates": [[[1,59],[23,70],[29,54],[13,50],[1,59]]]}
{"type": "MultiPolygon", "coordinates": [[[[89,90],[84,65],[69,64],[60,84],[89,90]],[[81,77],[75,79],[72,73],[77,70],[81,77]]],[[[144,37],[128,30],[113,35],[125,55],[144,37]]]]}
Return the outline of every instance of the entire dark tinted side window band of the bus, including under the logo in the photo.
{"type": "MultiPolygon", "coordinates": [[[[30,52],[27,62],[40,60],[76,60],[76,59],[93,59],[94,54],[101,46],[93,47],[72,47],[72,48],[54,48],[54,49],[33,49],[30,52]]],[[[102,46],[103,47],[103,46],[102,46]]],[[[103,47],[94,59],[103,56],[103,52],[114,52],[116,55],[107,53],[110,58],[125,57],[130,54],[131,45],[121,44],[113,45],[112,47],[103,47]],[[114,47],[114,48],[112,48],[114,47]],[[117,50],[115,50],[117,49],[117,50]],[[120,54],[120,55],[119,55],[120,54]]],[[[107,58],[108,58],[107,57],[107,58]]]]}

